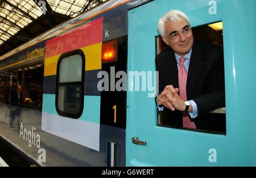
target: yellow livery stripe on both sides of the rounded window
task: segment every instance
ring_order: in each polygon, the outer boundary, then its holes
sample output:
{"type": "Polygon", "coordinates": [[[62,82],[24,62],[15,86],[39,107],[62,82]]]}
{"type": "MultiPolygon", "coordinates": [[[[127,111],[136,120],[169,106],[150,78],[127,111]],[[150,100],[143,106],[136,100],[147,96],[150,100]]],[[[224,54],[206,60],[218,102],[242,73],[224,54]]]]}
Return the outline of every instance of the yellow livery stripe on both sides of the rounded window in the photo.
{"type": "MultiPolygon", "coordinates": [[[[101,69],[101,43],[80,48],[85,56],[85,71],[101,69]]],[[[57,62],[61,54],[44,59],[44,76],[53,76],[57,72],[57,62]]]]}

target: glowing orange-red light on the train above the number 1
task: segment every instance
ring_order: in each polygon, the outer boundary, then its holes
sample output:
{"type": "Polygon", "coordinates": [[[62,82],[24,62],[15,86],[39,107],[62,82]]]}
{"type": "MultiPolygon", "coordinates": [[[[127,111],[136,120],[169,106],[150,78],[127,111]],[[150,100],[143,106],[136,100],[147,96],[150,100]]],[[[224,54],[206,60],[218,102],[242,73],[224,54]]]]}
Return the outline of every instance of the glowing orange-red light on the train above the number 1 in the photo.
{"type": "Polygon", "coordinates": [[[101,59],[105,63],[117,61],[117,39],[102,44],[101,59]]]}

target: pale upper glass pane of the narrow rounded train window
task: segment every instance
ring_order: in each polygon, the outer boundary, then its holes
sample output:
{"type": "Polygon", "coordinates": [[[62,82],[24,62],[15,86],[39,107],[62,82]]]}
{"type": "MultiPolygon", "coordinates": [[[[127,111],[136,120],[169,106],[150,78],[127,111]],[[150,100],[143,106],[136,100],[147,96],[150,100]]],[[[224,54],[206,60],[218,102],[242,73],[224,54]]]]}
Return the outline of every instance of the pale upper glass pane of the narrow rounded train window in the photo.
{"type": "Polygon", "coordinates": [[[72,55],[60,62],[59,82],[75,82],[82,79],[82,57],[72,55]]]}

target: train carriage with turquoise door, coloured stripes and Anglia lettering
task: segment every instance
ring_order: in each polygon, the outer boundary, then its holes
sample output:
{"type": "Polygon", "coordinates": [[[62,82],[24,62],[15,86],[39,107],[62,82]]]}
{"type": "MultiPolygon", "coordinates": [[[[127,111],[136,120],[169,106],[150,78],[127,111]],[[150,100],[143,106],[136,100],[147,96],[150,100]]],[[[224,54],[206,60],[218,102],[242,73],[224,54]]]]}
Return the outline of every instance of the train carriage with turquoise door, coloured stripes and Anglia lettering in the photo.
{"type": "Polygon", "coordinates": [[[7,52],[1,149],[40,166],[255,166],[255,3],[111,0],[7,52]],[[156,107],[157,24],[172,9],[224,50],[221,132],[168,126],[156,107]]]}

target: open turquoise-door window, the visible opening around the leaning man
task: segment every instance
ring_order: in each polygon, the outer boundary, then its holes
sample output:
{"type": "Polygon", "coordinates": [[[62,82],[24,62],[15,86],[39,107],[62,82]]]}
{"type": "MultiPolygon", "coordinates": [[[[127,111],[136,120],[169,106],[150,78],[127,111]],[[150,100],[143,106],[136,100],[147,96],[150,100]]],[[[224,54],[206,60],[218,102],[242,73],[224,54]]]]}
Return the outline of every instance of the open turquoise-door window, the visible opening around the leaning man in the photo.
{"type": "MultiPolygon", "coordinates": [[[[202,26],[197,26],[192,28],[194,42],[195,40],[203,40],[216,44],[223,48],[223,34],[222,34],[222,22],[204,24],[202,26]]],[[[161,36],[156,36],[156,55],[163,52],[165,49],[170,48],[166,43],[163,42],[161,36]]],[[[193,50],[193,49],[192,49],[193,50]]],[[[157,109],[158,110],[158,109],[157,109]]],[[[164,127],[173,127],[176,129],[185,129],[182,126],[176,126],[173,123],[170,123],[170,117],[172,114],[168,112],[157,111],[157,125],[164,127]]],[[[226,109],[221,107],[219,109],[213,110],[210,113],[207,113],[209,119],[212,119],[214,125],[217,125],[217,128],[214,130],[211,129],[186,129],[193,131],[201,131],[214,134],[226,134],[226,109]]]]}

